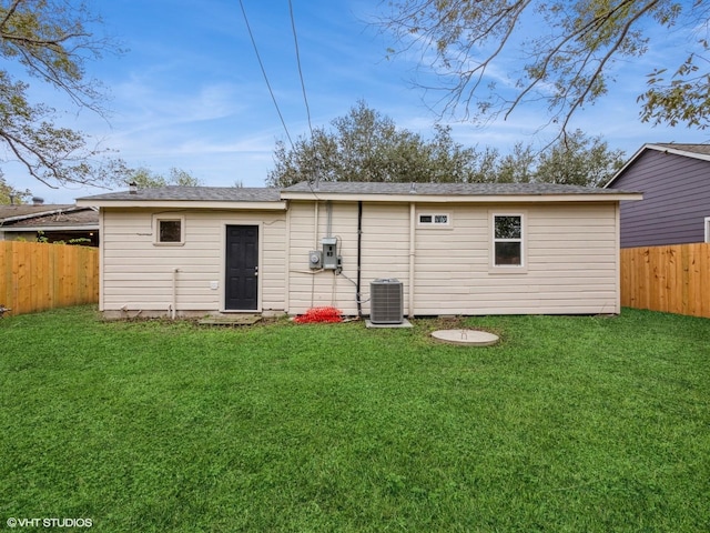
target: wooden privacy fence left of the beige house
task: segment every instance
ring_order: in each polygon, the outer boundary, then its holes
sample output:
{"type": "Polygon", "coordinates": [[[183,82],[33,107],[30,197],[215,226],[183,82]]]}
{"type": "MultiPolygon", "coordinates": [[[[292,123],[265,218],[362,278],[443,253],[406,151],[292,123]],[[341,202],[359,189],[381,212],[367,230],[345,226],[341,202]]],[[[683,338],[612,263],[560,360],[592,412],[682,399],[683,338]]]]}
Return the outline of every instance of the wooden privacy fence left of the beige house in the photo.
{"type": "Polygon", "coordinates": [[[24,314],[99,301],[99,249],[0,241],[0,305],[24,314]]]}

